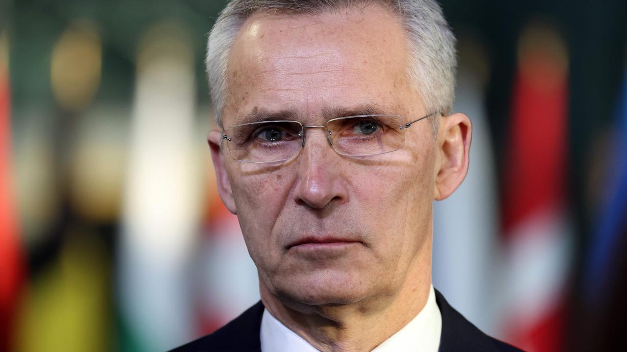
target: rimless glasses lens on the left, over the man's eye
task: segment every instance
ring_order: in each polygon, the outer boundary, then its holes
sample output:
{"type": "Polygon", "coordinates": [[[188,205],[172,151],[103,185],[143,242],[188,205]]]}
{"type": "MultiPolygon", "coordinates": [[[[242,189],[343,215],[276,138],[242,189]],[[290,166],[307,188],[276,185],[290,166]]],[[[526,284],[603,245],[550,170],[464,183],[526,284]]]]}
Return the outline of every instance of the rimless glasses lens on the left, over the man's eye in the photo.
{"type": "Polygon", "coordinates": [[[246,123],[229,128],[229,150],[241,162],[278,162],[298,154],[303,127],[295,121],[246,123]]]}

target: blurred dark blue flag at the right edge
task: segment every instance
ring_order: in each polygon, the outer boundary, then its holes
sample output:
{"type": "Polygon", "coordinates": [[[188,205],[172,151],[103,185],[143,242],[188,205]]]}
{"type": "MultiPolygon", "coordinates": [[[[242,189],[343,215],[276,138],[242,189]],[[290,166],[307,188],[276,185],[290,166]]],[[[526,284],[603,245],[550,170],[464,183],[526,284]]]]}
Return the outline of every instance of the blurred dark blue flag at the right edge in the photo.
{"type": "MultiPolygon", "coordinates": [[[[609,158],[601,186],[601,204],[584,263],[584,319],[575,336],[578,346],[624,351],[627,323],[627,75],[619,96],[616,122],[611,126],[609,158]]],[[[581,350],[586,350],[586,347],[581,350]]]]}

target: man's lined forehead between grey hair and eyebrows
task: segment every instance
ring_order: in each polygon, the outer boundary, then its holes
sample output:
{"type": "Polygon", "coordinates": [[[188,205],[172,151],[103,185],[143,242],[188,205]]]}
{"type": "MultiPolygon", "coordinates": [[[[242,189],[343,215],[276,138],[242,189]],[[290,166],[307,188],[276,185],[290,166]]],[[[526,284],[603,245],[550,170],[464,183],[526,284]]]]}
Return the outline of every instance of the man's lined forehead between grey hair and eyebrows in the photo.
{"type": "Polygon", "coordinates": [[[409,91],[407,52],[396,16],[379,6],[255,14],[229,54],[224,123],[258,109],[315,116],[364,105],[399,106],[409,91]]]}

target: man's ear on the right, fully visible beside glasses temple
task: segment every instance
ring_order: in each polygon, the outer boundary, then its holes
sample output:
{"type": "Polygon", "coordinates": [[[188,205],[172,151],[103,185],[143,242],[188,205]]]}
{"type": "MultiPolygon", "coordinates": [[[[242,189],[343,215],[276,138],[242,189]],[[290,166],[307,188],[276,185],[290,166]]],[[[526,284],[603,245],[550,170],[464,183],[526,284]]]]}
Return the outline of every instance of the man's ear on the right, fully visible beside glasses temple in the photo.
{"type": "Polygon", "coordinates": [[[472,124],[463,113],[441,118],[433,199],[443,200],[453,194],[468,172],[472,124]]]}

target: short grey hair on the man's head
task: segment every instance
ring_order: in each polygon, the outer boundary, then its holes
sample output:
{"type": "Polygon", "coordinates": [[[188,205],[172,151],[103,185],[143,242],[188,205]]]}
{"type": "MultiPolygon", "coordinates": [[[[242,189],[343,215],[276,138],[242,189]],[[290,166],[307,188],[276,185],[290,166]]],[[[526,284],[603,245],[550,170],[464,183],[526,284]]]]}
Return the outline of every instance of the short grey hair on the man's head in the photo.
{"type": "Polygon", "coordinates": [[[435,0],[232,0],[211,29],[205,62],[218,125],[222,126],[227,98],[229,51],[241,26],[252,14],[262,11],[317,14],[368,4],[381,4],[399,16],[408,35],[409,81],[429,113],[450,114],[455,94],[455,36],[435,0]]]}

